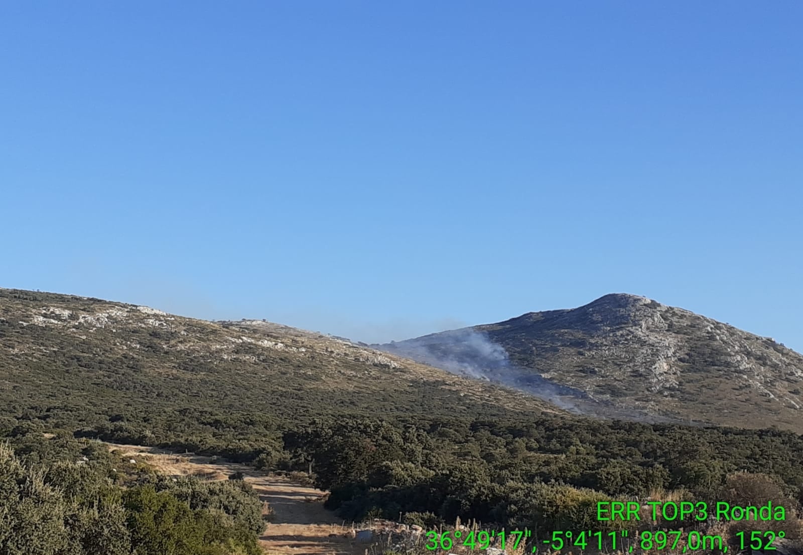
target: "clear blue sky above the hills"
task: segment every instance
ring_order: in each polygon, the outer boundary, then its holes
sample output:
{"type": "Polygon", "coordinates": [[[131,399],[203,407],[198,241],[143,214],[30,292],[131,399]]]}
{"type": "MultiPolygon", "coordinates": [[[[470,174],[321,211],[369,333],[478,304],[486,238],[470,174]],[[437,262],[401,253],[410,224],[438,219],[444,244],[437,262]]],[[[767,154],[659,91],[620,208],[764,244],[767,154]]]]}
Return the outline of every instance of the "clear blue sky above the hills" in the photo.
{"type": "Polygon", "coordinates": [[[803,351],[803,3],[2,2],[0,286],[389,341],[609,292],[803,351]]]}

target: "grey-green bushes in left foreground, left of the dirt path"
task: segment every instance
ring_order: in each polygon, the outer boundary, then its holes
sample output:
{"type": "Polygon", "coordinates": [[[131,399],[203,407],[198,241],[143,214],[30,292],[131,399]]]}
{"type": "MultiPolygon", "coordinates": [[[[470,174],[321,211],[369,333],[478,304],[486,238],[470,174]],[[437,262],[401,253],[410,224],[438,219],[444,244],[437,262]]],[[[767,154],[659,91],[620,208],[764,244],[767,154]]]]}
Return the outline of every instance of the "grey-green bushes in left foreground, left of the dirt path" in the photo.
{"type": "Polygon", "coordinates": [[[242,480],[157,477],[97,442],[0,443],[3,555],[256,555],[262,504],[242,480]]]}

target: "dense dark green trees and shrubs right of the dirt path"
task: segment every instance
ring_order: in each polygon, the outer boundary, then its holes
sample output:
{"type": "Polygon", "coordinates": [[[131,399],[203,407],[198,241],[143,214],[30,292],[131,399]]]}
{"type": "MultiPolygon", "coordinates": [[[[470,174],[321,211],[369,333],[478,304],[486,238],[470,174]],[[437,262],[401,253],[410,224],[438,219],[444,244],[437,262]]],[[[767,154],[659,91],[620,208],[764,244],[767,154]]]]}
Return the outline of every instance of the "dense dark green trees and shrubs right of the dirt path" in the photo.
{"type": "Polygon", "coordinates": [[[316,484],[331,490],[328,507],[354,520],[401,512],[430,525],[461,517],[544,532],[602,530],[597,501],[665,492],[773,500],[793,516],[803,486],[803,441],[784,431],[560,418],[355,420],[319,422],[284,439],[294,459],[313,459],[316,484]]]}

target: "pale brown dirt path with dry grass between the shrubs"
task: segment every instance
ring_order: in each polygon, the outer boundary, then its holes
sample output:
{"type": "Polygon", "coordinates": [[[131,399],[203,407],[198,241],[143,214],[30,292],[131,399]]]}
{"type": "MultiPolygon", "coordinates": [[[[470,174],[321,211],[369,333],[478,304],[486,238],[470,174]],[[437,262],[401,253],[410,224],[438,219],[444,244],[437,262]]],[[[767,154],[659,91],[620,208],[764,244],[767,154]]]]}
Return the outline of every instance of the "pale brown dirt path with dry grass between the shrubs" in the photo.
{"type": "Polygon", "coordinates": [[[124,458],[132,458],[156,467],[165,475],[196,475],[206,480],[226,480],[241,471],[259,498],[274,511],[259,543],[267,553],[279,555],[357,555],[366,545],[357,545],[343,534],[350,524],[338,520],[324,508],[324,492],[302,486],[284,476],[265,475],[242,464],[214,461],[210,457],[174,454],[151,447],[109,443],[124,458]],[[344,525],[345,524],[345,525],[344,525]]]}

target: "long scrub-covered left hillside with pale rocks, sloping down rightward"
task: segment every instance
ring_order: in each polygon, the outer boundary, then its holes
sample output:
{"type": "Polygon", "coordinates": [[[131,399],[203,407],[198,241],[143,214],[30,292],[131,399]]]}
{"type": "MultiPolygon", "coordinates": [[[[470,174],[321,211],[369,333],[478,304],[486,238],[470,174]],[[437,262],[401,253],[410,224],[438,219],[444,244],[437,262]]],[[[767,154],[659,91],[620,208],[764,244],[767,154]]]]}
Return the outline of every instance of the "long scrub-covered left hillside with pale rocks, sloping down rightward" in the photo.
{"type": "Polygon", "coordinates": [[[22,418],[131,443],[193,438],[192,450],[327,414],[553,410],[319,333],[13,289],[0,289],[0,407],[0,427],[22,418]]]}

